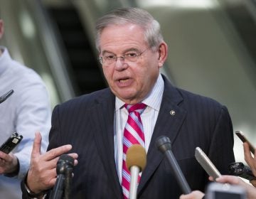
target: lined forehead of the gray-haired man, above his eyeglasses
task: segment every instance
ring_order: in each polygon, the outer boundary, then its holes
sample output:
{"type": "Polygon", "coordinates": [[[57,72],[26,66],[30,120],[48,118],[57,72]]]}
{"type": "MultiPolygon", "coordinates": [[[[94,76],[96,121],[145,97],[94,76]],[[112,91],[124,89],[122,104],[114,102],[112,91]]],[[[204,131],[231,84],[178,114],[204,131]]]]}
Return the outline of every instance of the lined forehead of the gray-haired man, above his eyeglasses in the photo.
{"type": "Polygon", "coordinates": [[[144,46],[146,46],[144,30],[133,23],[107,26],[100,36],[101,51],[126,50],[127,48],[140,49],[144,46]]]}

